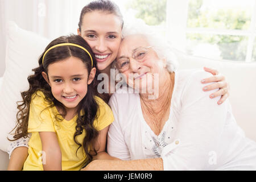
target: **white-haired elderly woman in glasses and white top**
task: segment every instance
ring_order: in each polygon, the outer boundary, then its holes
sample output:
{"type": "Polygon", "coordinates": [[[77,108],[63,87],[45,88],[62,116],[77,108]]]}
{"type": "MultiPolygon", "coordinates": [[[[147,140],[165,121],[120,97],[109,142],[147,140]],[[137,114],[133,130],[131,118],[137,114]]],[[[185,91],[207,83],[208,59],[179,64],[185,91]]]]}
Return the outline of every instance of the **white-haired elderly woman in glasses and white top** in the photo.
{"type": "Polygon", "coordinates": [[[159,43],[146,33],[122,40],[115,68],[137,91],[123,86],[109,101],[108,153],[122,160],[94,160],[85,169],[255,170],[256,143],[237,126],[229,101],[216,105],[200,89],[209,73],[176,70],[159,43]]]}

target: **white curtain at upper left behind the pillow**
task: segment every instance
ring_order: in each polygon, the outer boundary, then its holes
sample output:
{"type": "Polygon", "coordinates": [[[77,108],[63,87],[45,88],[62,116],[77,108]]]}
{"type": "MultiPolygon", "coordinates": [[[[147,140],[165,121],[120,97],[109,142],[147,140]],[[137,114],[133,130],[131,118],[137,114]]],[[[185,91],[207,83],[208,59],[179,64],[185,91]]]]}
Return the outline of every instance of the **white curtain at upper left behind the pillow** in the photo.
{"type": "Polygon", "coordinates": [[[48,39],[77,34],[79,16],[89,0],[0,0],[0,77],[5,71],[6,22],[48,39]]]}

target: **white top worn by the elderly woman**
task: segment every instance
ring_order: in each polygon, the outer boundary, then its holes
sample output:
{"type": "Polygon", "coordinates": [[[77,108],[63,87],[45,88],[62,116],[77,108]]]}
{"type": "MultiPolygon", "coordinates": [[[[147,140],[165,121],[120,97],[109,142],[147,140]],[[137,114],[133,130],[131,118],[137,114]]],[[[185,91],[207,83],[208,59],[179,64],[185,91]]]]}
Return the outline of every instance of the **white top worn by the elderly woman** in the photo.
{"type": "Polygon", "coordinates": [[[143,118],[139,94],[119,89],[110,98],[114,122],[108,153],[123,160],[162,158],[164,170],[256,169],[256,143],[245,137],[229,101],[209,98],[201,80],[210,73],[175,72],[170,116],[156,136],[143,118]]]}

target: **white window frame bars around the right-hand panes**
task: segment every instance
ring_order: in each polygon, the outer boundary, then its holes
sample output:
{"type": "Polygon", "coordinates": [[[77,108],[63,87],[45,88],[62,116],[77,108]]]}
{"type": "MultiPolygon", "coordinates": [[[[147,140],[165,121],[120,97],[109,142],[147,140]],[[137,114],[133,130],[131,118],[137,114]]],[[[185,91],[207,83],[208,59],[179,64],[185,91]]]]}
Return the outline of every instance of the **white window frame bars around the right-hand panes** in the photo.
{"type": "MultiPolygon", "coordinates": [[[[254,42],[256,42],[256,2],[254,2],[251,23],[248,30],[224,30],[217,28],[187,27],[189,0],[168,0],[166,7],[166,36],[172,47],[185,52],[186,34],[237,35],[248,38],[245,62],[253,61],[254,42]]],[[[256,48],[256,47],[255,47],[256,48]]],[[[208,57],[209,58],[209,57],[208,57]]]]}

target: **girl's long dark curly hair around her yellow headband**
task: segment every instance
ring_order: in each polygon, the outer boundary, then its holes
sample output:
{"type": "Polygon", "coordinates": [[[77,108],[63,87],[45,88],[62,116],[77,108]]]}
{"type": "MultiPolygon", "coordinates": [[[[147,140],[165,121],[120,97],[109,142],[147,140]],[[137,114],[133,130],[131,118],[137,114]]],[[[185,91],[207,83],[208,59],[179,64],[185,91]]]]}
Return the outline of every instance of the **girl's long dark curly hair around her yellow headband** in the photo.
{"type": "MultiPolygon", "coordinates": [[[[79,46],[84,47],[88,50],[90,55],[93,58],[93,67],[96,68],[96,60],[94,58],[94,54],[92,52],[92,49],[86,43],[86,41],[79,35],[69,35],[69,36],[61,36],[60,38],[57,38],[53,40],[49,45],[46,47],[45,51],[47,49],[51,48],[52,46],[55,46],[56,44],[61,43],[74,43],[79,46]]],[[[45,100],[49,104],[49,107],[56,106],[61,111],[64,111],[64,114],[61,114],[63,118],[65,118],[65,115],[67,114],[67,111],[65,110],[64,105],[57,101],[55,97],[53,97],[51,92],[51,87],[48,85],[46,80],[44,80],[42,76],[42,72],[46,72],[48,75],[48,65],[55,63],[56,61],[61,61],[64,59],[67,59],[68,57],[77,57],[84,63],[86,69],[88,70],[88,77],[90,74],[90,71],[92,70],[92,61],[90,59],[90,56],[88,53],[86,53],[83,49],[75,46],[60,46],[55,47],[48,51],[46,53],[46,56],[44,57],[44,63],[42,64],[43,55],[39,58],[39,67],[32,69],[34,71],[34,75],[28,76],[27,80],[30,85],[29,89],[26,92],[22,92],[22,99],[23,101],[17,102],[18,106],[18,113],[16,115],[16,119],[18,121],[15,130],[15,135],[13,140],[17,140],[19,138],[27,138],[28,137],[28,118],[30,114],[30,102],[33,98],[31,98],[32,94],[36,93],[37,91],[43,92],[45,96],[45,100]],[[19,104],[20,103],[20,104],[19,104]]],[[[92,160],[92,155],[90,152],[94,151],[94,154],[97,154],[95,148],[92,149],[92,143],[96,139],[98,135],[98,131],[93,126],[94,119],[97,118],[97,111],[98,111],[98,102],[96,101],[95,96],[101,97],[100,94],[97,92],[97,76],[99,72],[96,71],[96,76],[94,77],[92,83],[88,85],[86,96],[79,102],[78,109],[77,109],[77,125],[76,125],[76,132],[73,136],[73,139],[75,142],[79,145],[77,150],[79,150],[80,147],[84,148],[85,154],[88,156],[89,162],[92,160]],[[84,111],[84,115],[81,115],[80,111],[84,111]],[[81,143],[77,141],[77,136],[81,135],[83,132],[85,132],[85,138],[81,143]],[[90,150],[90,151],[89,151],[90,150]]],[[[102,97],[101,97],[102,98],[102,97]]],[[[47,108],[49,108],[47,107],[47,108]]],[[[46,108],[46,109],[47,109],[46,108]]],[[[56,121],[62,121],[61,117],[58,117],[57,114],[55,115],[56,121]]],[[[10,139],[9,139],[10,140],[10,139]]]]}

